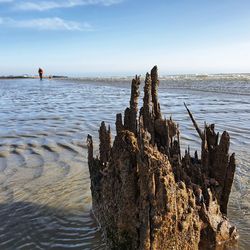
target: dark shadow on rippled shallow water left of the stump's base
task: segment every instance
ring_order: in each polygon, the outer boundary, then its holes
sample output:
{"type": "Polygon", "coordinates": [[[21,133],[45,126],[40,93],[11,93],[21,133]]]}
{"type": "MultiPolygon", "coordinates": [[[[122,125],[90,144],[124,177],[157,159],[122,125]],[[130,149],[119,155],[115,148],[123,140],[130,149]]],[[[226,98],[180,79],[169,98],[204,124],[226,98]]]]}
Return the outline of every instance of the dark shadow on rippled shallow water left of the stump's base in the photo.
{"type": "Polygon", "coordinates": [[[104,249],[91,212],[0,204],[0,249],[104,249]]]}

